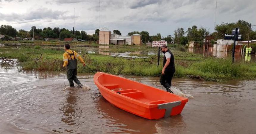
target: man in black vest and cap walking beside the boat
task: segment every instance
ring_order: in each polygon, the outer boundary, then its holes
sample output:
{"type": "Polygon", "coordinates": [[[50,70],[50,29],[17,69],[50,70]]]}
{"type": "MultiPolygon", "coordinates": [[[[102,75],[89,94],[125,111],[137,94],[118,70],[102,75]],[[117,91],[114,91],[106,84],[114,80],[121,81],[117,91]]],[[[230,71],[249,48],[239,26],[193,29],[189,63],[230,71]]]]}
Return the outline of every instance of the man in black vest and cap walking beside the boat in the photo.
{"type": "Polygon", "coordinates": [[[161,47],[161,51],[164,53],[163,57],[163,70],[160,78],[160,83],[166,88],[167,92],[171,92],[171,79],[175,72],[174,56],[166,45],[161,47]]]}

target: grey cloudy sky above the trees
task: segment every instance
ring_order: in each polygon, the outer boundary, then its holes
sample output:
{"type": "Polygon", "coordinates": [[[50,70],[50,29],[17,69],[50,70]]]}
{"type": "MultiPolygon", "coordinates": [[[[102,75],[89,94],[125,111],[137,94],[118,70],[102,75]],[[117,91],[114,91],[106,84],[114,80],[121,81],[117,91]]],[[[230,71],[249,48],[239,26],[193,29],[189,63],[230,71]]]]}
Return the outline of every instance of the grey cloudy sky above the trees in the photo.
{"type": "MultiPolygon", "coordinates": [[[[192,25],[214,31],[216,0],[0,0],[0,24],[17,30],[57,27],[84,30],[118,29],[172,35],[192,25]],[[100,16],[100,17],[99,17],[100,16]],[[100,20],[100,24],[99,24],[100,20]]],[[[256,0],[218,0],[216,24],[247,20],[256,25],[256,0]]]]}

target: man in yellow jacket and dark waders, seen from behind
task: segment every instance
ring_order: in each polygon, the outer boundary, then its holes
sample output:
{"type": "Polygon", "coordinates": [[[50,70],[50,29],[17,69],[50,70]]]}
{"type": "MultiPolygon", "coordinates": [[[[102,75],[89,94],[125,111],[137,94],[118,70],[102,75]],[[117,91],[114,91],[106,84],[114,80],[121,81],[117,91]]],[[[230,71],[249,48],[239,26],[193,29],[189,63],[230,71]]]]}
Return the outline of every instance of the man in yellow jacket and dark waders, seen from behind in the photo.
{"type": "Polygon", "coordinates": [[[70,87],[75,87],[74,82],[77,83],[79,88],[82,88],[83,85],[77,79],[77,58],[83,63],[85,66],[85,62],[82,57],[75,51],[70,50],[70,45],[65,44],[65,52],[63,53],[63,67],[67,67],[67,79],[69,82],[70,87]],[[73,82],[74,80],[74,82],[73,82]]]}

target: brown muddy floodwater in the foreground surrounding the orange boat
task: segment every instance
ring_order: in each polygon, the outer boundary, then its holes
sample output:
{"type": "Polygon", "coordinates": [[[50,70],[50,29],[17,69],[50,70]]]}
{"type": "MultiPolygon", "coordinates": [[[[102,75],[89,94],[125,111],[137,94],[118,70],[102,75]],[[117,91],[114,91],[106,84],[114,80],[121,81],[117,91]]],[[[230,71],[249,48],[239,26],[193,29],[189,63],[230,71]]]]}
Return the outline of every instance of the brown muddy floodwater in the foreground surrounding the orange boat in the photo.
{"type": "MultiPolygon", "coordinates": [[[[0,68],[1,134],[256,133],[256,80],[173,79],[177,89],[194,98],[189,98],[180,115],[148,120],[108,103],[93,74],[78,76],[91,90],[65,90],[64,74],[18,70],[16,66],[0,68]]],[[[163,89],[158,77],[124,77],[163,89]]]]}

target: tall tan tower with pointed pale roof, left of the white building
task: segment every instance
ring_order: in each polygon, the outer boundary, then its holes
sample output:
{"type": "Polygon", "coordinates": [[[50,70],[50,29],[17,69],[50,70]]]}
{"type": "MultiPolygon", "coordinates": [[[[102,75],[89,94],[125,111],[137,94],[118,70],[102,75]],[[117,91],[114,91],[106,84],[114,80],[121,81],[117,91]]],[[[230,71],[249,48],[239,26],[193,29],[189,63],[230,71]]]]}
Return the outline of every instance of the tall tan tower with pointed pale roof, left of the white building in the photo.
{"type": "Polygon", "coordinates": [[[111,31],[106,27],[99,31],[99,44],[109,45],[110,44],[111,31]]]}

